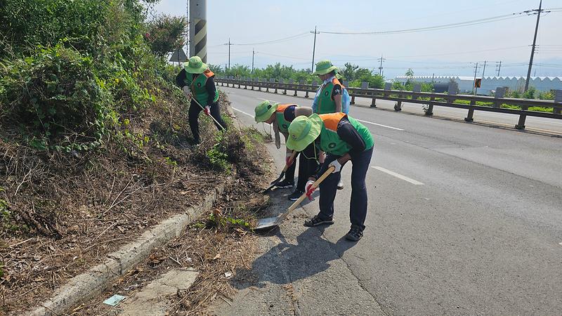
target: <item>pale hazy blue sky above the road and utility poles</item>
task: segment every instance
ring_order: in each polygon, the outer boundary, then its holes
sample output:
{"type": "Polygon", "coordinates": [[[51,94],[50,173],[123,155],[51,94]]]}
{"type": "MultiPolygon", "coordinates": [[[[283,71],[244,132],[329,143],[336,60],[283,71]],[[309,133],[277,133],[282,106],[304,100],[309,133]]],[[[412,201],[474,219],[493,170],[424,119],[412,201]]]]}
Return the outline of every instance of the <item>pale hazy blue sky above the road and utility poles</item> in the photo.
{"type": "MultiPolygon", "coordinates": [[[[275,44],[230,46],[230,65],[255,66],[281,62],[309,68],[315,26],[315,61],[330,59],[343,66],[352,62],[378,71],[377,58],[384,55],[385,77],[403,74],[408,67],[416,75],[464,75],[474,73],[473,62],[488,60],[485,75],[526,75],[536,15],[429,32],[403,34],[327,34],[322,32],[379,32],[480,20],[537,8],[539,0],[426,0],[426,1],[207,1],[208,62],[225,65],[228,46],[262,41],[296,39],[275,44]]],[[[562,0],[544,0],[543,8],[558,12],[542,14],[535,55],[537,76],[562,76],[562,0]]],[[[185,15],[185,0],[162,0],[158,13],[185,15]]],[[[478,70],[478,76],[482,68],[478,70]]]]}

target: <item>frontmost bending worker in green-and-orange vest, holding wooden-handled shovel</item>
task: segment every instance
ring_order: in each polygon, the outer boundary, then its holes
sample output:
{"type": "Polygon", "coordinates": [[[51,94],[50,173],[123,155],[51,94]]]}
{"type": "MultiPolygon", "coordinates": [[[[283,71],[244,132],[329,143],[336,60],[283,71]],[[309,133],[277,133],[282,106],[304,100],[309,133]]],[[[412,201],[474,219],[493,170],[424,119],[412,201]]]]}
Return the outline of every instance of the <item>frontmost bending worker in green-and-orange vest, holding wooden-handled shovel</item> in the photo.
{"type": "Polygon", "coordinates": [[[316,225],[332,225],[334,223],[334,199],[336,185],[341,178],[341,168],[351,161],[351,203],[349,217],[351,229],[346,239],[358,241],[365,230],[367,216],[367,187],[365,176],[371,162],[374,141],[370,131],[345,113],[312,114],[310,117],[297,117],[289,126],[287,148],[302,150],[311,143],[316,143],[320,150],[327,152],[325,162],[318,173],[306,183],[306,194],[309,198],[314,191],[312,184],[320,174],[330,166],[334,171],[320,183],[320,213],[306,220],[308,227],[316,225]]]}

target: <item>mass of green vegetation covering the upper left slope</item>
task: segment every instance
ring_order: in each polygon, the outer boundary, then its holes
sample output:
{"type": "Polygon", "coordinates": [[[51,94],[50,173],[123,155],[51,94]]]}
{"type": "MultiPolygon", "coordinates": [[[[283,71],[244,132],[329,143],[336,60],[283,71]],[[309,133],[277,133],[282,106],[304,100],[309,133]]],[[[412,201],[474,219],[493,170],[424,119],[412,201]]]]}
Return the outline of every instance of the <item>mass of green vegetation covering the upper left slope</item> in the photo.
{"type": "Polygon", "coordinates": [[[87,151],[119,134],[119,121],[162,102],[177,73],[163,56],[183,44],[185,19],[145,22],[154,2],[0,6],[0,123],[39,150],[87,151]]]}

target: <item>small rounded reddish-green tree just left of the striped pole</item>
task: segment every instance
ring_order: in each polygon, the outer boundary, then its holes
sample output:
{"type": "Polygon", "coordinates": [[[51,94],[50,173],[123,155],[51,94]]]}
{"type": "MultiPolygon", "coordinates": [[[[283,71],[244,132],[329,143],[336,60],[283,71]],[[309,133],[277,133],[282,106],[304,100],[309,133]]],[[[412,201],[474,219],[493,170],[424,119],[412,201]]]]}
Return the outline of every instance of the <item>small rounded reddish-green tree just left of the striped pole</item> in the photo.
{"type": "Polygon", "coordinates": [[[145,37],[152,52],[164,56],[183,46],[187,26],[188,22],[183,16],[159,15],[148,22],[145,37]]]}

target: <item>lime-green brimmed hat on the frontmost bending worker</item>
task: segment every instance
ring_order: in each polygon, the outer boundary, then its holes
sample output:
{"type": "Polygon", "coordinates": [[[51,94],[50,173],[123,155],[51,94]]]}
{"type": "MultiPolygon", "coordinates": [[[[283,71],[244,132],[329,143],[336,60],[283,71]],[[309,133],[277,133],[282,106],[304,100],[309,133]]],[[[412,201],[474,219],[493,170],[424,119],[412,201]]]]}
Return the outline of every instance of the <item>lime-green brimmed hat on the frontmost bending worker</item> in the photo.
{"type": "Polygon", "coordinates": [[[289,125],[289,138],[287,138],[287,148],[289,150],[303,151],[306,146],[320,136],[322,130],[322,119],[318,114],[310,117],[296,117],[289,125]]]}

